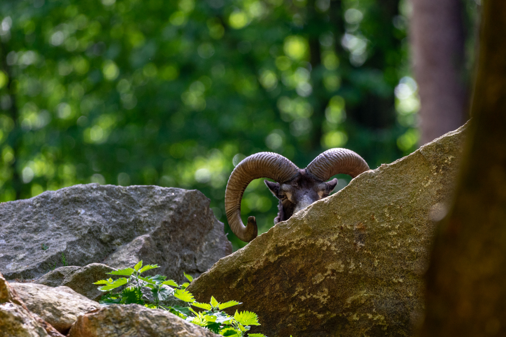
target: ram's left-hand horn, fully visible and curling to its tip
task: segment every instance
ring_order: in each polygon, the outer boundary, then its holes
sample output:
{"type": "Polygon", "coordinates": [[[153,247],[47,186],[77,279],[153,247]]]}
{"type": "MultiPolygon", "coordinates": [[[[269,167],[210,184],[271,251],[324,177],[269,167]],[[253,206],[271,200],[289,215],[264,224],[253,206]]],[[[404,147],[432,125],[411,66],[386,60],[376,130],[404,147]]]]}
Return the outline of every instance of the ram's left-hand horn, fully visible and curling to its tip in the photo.
{"type": "Polygon", "coordinates": [[[260,152],[243,159],[232,171],[225,190],[225,212],[230,229],[238,238],[250,242],[257,237],[257,221],[248,218],[244,227],[241,220],[241,199],[244,190],[253,179],[270,178],[279,183],[287,182],[299,174],[299,168],[285,157],[272,152],[260,152]]]}

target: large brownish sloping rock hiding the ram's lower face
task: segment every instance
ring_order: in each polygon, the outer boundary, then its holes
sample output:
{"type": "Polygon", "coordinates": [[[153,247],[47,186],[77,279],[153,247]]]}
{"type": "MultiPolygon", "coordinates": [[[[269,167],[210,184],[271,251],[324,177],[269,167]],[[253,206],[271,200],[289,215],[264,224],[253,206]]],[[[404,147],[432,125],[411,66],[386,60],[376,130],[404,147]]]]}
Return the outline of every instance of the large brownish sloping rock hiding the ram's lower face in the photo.
{"type": "MultiPolygon", "coordinates": [[[[216,263],[188,291],[243,302],[270,337],[406,336],[467,126],[364,172],[216,263]]],[[[235,307],[234,307],[235,310],[235,307]]]]}

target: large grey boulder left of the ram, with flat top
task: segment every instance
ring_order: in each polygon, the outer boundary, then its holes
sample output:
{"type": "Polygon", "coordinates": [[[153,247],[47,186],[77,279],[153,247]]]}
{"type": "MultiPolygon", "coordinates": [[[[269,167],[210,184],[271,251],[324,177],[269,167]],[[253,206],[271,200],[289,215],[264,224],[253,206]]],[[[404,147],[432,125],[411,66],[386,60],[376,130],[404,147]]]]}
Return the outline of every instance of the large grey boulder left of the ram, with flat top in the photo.
{"type": "Polygon", "coordinates": [[[39,277],[63,252],[76,266],[105,260],[122,268],[142,259],[183,281],[183,271],[199,275],[231,251],[223,223],[197,190],[95,183],[0,204],[7,279],[39,277]]]}

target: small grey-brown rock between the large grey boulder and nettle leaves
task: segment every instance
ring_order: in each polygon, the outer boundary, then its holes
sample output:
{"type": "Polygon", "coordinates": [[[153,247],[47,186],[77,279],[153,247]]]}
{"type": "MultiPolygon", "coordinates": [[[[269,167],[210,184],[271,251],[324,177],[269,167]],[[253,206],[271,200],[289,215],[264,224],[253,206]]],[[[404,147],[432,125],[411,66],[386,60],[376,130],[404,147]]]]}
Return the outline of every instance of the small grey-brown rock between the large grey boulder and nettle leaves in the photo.
{"type": "Polygon", "coordinates": [[[104,292],[98,290],[98,285],[93,282],[108,278],[116,279],[119,276],[107,274],[113,270],[117,269],[102,263],[91,263],[84,267],[66,266],[50,271],[34,283],[53,287],[65,285],[72,288],[74,292],[98,302],[104,292]]]}

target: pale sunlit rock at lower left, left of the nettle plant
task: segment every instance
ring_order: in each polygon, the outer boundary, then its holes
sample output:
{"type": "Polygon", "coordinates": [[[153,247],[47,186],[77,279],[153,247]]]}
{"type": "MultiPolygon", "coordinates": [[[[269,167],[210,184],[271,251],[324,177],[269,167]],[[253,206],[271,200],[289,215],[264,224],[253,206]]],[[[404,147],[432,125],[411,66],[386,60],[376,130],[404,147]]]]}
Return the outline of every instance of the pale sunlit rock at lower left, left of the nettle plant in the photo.
{"type": "Polygon", "coordinates": [[[10,283],[26,307],[65,334],[79,314],[99,309],[100,304],[74,292],[68,286],[10,283]]]}

